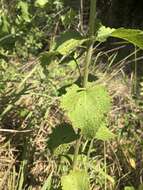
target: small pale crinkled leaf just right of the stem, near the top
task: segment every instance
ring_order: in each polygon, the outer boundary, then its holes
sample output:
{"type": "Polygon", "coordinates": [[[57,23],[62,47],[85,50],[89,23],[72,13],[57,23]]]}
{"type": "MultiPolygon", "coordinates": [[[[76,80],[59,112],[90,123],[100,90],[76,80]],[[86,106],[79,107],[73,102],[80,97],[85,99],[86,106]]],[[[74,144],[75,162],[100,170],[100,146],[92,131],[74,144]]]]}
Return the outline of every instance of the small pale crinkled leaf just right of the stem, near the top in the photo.
{"type": "Polygon", "coordinates": [[[101,26],[97,32],[96,40],[99,42],[104,42],[107,38],[115,31],[114,28],[101,26]]]}

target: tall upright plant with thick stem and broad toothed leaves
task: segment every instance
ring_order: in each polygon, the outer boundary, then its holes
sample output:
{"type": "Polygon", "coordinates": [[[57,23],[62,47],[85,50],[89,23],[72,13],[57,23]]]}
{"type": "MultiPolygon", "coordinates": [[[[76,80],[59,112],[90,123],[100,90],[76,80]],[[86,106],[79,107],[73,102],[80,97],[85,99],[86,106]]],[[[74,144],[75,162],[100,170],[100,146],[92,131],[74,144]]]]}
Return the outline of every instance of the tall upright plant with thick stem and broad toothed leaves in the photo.
{"type": "MultiPolygon", "coordinates": [[[[66,32],[62,34],[61,38],[55,42],[52,48],[52,55],[62,55],[64,58],[72,55],[75,49],[85,45],[87,53],[84,61],[83,81],[81,86],[73,84],[67,89],[67,93],[61,97],[61,108],[65,111],[68,119],[72,123],[73,128],[80,136],[76,142],[75,153],[72,163],[72,171],[70,174],[62,177],[63,190],[67,189],[70,184],[70,178],[73,178],[74,189],[83,189],[82,179],[79,178],[79,183],[74,179],[82,170],[78,167],[78,154],[82,138],[92,139],[97,138],[103,141],[109,140],[114,135],[106,127],[108,119],[106,115],[110,111],[110,96],[107,90],[102,85],[88,82],[89,65],[92,60],[93,46],[96,41],[100,43],[106,41],[108,37],[115,37],[127,40],[134,45],[143,48],[143,32],[140,30],[131,29],[114,29],[96,25],[96,1],[90,1],[90,20],[89,20],[89,33],[84,37],[80,34],[73,34],[66,32]],[[94,18],[94,19],[93,19],[94,18]],[[77,170],[77,171],[76,171],[77,170]],[[74,173],[74,174],[73,174],[74,173]]],[[[48,55],[48,54],[47,54],[48,55]]],[[[106,154],[106,153],[105,153],[106,154]]],[[[87,170],[87,168],[86,168],[87,170]]],[[[86,175],[86,172],[84,175],[86,175]]],[[[105,172],[106,172],[106,157],[105,157],[105,172]]],[[[77,177],[78,178],[78,177],[77,177]]],[[[84,186],[85,189],[89,187],[84,186]]],[[[105,179],[105,189],[106,179],[105,179]]]]}

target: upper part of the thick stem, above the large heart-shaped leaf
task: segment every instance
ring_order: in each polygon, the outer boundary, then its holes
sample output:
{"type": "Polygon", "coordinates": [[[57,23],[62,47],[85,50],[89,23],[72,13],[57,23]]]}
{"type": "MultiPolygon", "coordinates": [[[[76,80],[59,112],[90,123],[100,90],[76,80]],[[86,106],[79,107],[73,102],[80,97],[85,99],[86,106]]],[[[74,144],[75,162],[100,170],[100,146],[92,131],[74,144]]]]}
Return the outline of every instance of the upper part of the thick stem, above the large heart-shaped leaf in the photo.
{"type": "Polygon", "coordinates": [[[88,44],[87,54],[85,58],[83,87],[86,88],[88,82],[89,65],[92,59],[92,51],[94,42],[92,37],[95,35],[95,22],[96,22],[96,0],[90,0],[90,17],[89,17],[89,38],[91,41],[88,44]]]}

